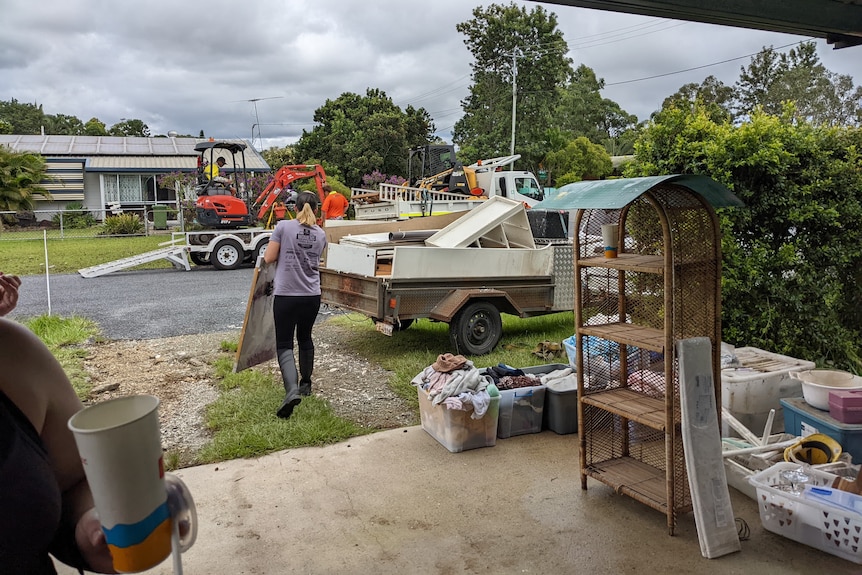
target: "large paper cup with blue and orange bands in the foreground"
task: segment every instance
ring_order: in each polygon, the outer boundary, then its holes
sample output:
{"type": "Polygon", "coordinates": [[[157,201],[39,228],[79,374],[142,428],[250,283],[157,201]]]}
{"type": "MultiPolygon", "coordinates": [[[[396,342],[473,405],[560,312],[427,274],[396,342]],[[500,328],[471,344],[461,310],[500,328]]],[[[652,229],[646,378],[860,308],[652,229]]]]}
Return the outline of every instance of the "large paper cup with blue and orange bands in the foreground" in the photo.
{"type": "Polygon", "coordinates": [[[114,569],[137,573],[171,553],[159,400],[133,395],[69,419],[114,569]]]}

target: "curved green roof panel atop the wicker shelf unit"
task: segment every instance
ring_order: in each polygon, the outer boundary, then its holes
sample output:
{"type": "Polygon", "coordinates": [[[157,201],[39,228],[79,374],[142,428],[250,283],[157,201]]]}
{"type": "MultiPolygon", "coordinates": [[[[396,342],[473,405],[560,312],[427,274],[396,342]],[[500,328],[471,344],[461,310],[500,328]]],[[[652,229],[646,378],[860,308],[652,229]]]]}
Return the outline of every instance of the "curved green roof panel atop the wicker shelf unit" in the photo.
{"type": "Polygon", "coordinates": [[[682,186],[716,208],[742,207],[745,204],[723,184],[707,176],[672,174],[645,178],[590,180],[566,184],[557,194],[533,206],[534,210],[619,209],[644,192],[663,184],[682,186]]]}

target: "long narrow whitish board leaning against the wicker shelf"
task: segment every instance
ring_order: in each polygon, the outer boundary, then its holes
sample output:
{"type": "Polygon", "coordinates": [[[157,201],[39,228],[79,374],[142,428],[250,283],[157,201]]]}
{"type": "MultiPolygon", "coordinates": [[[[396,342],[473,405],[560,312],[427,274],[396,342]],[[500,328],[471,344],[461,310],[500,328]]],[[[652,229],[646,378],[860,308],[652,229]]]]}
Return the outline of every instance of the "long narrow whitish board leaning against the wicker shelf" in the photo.
{"type": "Polygon", "coordinates": [[[700,552],[714,559],[742,549],[730,504],[708,337],[677,342],[682,444],[700,552]]]}

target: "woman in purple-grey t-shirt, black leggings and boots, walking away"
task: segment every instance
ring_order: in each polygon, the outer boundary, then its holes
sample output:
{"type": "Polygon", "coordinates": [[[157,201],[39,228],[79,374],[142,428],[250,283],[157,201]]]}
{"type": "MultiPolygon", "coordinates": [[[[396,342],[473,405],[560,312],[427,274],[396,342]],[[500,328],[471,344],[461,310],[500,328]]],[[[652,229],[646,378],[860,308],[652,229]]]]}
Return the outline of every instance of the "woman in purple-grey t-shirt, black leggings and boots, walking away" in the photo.
{"type": "Polygon", "coordinates": [[[320,257],[326,248],[326,234],[317,225],[317,196],[302,192],[296,198],[296,219],[281,220],[275,226],[263,259],[277,262],[273,294],[275,349],[284,401],[278,416],[287,419],[311,395],[314,342],[311,329],[320,309],[320,257]],[[293,356],[294,335],[299,347],[299,373],[293,356]]]}

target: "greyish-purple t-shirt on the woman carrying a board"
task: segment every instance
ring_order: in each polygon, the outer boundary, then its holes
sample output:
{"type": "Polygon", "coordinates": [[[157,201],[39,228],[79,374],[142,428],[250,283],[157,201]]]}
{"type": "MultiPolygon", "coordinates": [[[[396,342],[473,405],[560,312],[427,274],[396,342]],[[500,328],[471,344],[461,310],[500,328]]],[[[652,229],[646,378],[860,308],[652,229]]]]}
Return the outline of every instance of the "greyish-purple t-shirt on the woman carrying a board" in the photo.
{"type": "Polygon", "coordinates": [[[320,226],[304,226],[297,220],[281,220],[271,242],[279,243],[275,270],[275,295],[320,295],[320,256],[326,233],[320,226]]]}

